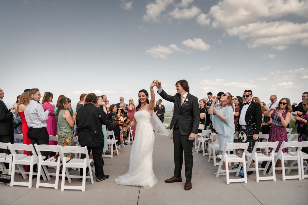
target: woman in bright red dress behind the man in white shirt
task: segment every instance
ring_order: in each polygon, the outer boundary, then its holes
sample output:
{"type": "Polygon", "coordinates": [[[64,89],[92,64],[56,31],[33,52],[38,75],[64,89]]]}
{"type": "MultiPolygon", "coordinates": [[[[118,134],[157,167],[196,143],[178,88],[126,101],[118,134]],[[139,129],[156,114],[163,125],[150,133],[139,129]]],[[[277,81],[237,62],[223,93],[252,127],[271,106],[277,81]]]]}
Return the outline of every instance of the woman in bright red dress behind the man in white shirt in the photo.
{"type": "MultiPolygon", "coordinates": [[[[27,132],[29,130],[26,118],[25,118],[25,108],[27,106],[27,104],[29,104],[30,102],[30,97],[28,92],[22,93],[20,98],[19,98],[19,102],[16,108],[16,113],[20,115],[21,120],[22,120],[22,140],[23,140],[23,144],[31,144],[30,139],[27,137],[27,132]]],[[[30,155],[31,152],[29,151],[24,151],[25,155],[30,155]]],[[[23,168],[25,169],[25,171],[29,171],[29,165],[23,165],[23,168]]]]}

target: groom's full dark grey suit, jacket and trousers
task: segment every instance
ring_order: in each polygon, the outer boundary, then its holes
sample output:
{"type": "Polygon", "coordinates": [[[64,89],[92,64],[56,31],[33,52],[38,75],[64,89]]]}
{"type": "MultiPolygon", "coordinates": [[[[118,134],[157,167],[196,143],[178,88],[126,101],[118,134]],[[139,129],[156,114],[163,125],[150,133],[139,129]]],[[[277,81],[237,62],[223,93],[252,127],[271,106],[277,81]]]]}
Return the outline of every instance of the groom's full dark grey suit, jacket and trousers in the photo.
{"type": "Polygon", "coordinates": [[[164,90],[159,93],[162,98],[174,103],[174,111],[170,123],[173,128],[174,177],[181,177],[183,151],[185,160],[186,181],[190,182],[193,170],[193,140],[188,140],[191,132],[197,133],[200,121],[200,109],[197,97],[187,94],[188,101],[181,105],[181,95],[168,95],[164,90]]]}

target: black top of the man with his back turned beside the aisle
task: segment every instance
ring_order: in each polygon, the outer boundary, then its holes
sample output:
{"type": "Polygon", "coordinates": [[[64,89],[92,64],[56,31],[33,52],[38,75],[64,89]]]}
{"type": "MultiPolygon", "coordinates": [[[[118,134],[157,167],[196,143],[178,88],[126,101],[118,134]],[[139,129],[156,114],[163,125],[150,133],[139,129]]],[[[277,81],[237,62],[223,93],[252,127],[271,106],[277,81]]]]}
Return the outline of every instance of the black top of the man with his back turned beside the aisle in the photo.
{"type": "Polygon", "coordinates": [[[78,110],[76,125],[81,146],[97,147],[104,142],[102,124],[107,125],[107,114],[92,103],[78,110]]]}

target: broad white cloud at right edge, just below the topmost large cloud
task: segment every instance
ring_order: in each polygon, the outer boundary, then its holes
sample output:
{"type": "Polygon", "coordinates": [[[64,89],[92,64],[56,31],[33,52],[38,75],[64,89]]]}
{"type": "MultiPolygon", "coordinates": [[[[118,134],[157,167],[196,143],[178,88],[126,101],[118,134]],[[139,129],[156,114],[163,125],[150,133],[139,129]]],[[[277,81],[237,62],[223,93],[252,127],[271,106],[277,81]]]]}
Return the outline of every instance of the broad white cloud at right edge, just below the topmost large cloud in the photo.
{"type": "Polygon", "coordinates": [[[248,39],[248,48],[271,46],[282,50],[290,44],[305,44],[308,39],[308,22],[293,23],[287,21],[256,22],[227,29],[230,36],[248,39]]]}

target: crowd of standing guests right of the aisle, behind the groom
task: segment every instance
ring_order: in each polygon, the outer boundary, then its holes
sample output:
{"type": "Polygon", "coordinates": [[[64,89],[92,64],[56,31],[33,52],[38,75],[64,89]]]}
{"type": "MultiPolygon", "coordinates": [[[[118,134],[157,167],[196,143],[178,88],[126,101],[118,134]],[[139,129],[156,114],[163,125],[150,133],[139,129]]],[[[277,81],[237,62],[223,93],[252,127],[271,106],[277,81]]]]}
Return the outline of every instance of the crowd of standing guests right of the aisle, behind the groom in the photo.
{"type": "MultiPolygon", "coordinates": [[[[221,153],[226,142],[249,142],[247,151],[252,152],[256,142],[265,140],[259,139],[258,135],[261,133],[269,134],[268,141],[279,142],[275,151],[278,152],[282,142],[288,141],[286,128],[289,126],[291,115],[296,120],[298,141],[307,141],[308,92],[302,93],[302,102],[298,105],[291,104],[290,99],[286,97],[278,101],[276,95],[271,95],[270,103],[265,105],[258,97],[253,96],[251,90],[245,90],[242,96],[236,97],[224,92],[217,93],[217,96],[213,96],[211,92],[207,95],[208,98],[199,101],[200,126],[197,137],[200,138],[202,128],[206,129],[212,124],[211,138],[213,135],[218,135],[215,143],[219,144],[221,153]],[[236,139],[234,134],[237,136],[236,139]]],[[[308,153],[306,149],[302,151],[308,153]]],[[[235,154],[242,155],[242,152],[242,150],[236,150],[235,154]]],[[[282,152],[287,152],[287,149],[283,149],[282,152]]],[[[280,160],[276,167],[281,167],[280,160]]],[[[276,170],[276,173],[280,172],[281,170],[276,170]]],[[[251,173],[253,171],[248,171],[248,174],[251,173]]]]}

